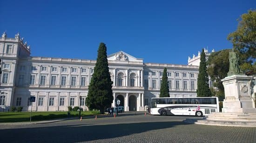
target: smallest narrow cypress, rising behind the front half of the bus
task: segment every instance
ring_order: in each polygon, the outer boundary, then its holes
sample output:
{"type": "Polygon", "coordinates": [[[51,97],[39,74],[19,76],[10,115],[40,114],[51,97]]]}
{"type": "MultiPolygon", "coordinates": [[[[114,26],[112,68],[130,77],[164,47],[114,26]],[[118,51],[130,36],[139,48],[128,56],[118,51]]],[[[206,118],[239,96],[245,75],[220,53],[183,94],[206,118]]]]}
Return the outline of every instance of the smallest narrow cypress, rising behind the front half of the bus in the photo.
{"type": "Polygon", "coordinates": [[[160,97],[170,97],[166,68],[163,69],[162,83],[161,83],[161,88],[160,88],[160,97]]]}

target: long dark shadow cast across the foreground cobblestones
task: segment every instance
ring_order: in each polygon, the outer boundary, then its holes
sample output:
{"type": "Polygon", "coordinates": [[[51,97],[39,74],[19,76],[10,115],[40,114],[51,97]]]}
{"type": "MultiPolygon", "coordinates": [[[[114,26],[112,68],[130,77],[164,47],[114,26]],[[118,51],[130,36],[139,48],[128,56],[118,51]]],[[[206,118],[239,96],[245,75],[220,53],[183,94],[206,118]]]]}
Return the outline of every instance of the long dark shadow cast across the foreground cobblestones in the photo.
{"type": "Polygon", "coordinates": [[[146,131],[171,128],[184,122],[151,122],[132,124],[79,124],[0,130],[1,143],[86,142],[128,136],[146,131]],[[22,140],[20,140],[22,139],[22,140]]]}

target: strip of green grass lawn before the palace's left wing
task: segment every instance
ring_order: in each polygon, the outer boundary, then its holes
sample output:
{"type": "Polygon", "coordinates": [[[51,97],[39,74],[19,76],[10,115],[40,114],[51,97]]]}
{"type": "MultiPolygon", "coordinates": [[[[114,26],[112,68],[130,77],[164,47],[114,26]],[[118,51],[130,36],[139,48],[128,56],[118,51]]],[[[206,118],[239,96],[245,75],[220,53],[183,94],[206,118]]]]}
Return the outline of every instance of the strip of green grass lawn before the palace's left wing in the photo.
{"type": "MultiPolygon", "coordinates": [[[[97,115],[99,111],[83,111],[81,116],[97,115]]],[[[79,117],[79,111],[71,111],[70,117],[79,117]]],[[[32,121],[68,118],[67,112],[32,112],[32,121]]],[[[0,112],[0,123],[29,122],[30,112],[0,112]]]]}

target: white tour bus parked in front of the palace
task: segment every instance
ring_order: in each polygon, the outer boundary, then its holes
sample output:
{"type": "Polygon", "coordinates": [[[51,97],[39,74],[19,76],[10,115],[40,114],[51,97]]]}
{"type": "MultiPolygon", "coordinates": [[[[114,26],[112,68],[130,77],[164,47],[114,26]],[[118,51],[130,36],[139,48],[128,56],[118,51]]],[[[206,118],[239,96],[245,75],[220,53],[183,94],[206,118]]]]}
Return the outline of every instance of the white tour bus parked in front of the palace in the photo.
{"type": "Polygon", "coordinates": [[[151,115],[203,116],[219,112],[218,97],[152,98],[151,115]]]}

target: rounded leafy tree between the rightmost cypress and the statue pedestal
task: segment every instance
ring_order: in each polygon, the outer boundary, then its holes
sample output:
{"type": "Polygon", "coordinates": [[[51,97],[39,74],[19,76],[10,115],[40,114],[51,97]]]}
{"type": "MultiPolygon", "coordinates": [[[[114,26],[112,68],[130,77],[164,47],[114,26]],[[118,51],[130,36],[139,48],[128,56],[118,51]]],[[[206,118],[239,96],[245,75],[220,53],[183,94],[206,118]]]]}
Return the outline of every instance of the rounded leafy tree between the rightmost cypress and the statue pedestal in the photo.
{"type": "MultiPolygon", "coordinates": [[[[216,96],[224,97],[224,87],[221,79],[225,78],[229,72],[229,49],[211,53],[207,61],[207,71],[213,81],[213,86],[217,87],[216,96]]],[[[213,91],[213,90],[212,90],[213,91]]]]}

